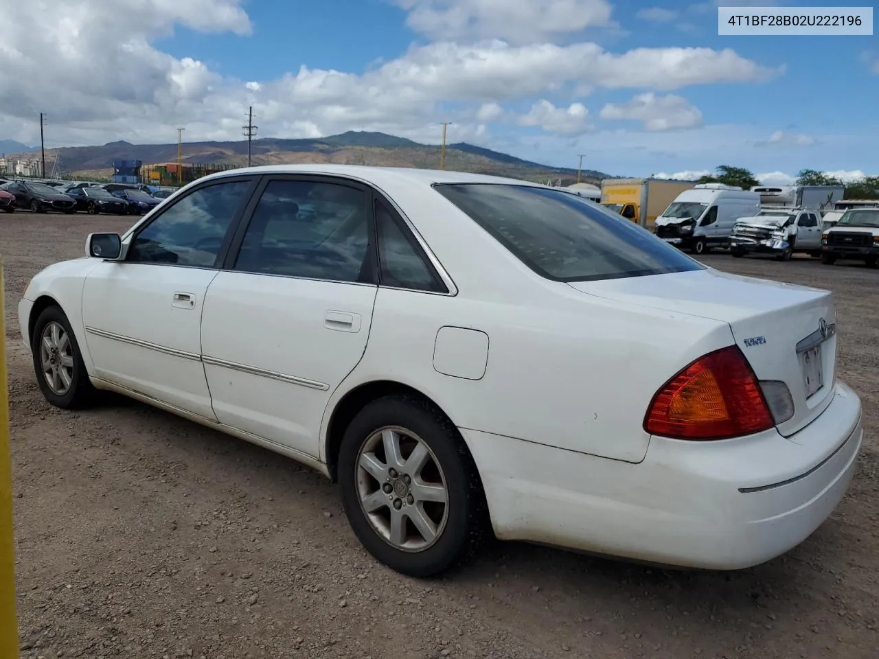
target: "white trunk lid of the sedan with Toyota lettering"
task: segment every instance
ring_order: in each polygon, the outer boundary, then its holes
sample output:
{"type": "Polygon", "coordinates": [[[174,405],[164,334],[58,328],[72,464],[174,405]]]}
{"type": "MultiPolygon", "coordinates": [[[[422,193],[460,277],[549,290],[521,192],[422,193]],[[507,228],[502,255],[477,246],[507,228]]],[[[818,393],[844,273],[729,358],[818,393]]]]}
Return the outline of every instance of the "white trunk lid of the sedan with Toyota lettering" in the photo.
{"type": "Polygon", "coordinates": [[[777,426],[785,437],[809,424],[832,400],[837,337],[829,291],[712,269],[569,286],[609,300],[728,323],[758,379],[788,386],[794,416],[777,426]]]}

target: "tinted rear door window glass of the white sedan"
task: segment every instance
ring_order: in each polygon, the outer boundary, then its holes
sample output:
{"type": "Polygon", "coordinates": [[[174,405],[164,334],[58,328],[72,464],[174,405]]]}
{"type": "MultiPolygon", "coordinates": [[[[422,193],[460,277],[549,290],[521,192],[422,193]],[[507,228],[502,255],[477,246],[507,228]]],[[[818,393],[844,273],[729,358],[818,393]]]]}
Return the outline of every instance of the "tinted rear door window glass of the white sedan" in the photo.
{"type": "Polygon", "coordinates": [[[366,193],[314,181],[270,181],[244,233],[235,269],[369,281],[366,193]]]}

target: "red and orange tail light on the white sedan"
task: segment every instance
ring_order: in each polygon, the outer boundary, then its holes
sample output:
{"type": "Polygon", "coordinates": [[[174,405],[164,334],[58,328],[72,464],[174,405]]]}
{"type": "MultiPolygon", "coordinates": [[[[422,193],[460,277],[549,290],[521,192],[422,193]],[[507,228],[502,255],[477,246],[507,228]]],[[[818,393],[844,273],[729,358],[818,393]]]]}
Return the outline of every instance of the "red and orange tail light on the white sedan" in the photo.
{"type": "Polygon", "coordinates": [[[674,439],[726,439],[765,431],[772,413],[737,346],[709,352],[653,396],[644,430],[674,439]]]}

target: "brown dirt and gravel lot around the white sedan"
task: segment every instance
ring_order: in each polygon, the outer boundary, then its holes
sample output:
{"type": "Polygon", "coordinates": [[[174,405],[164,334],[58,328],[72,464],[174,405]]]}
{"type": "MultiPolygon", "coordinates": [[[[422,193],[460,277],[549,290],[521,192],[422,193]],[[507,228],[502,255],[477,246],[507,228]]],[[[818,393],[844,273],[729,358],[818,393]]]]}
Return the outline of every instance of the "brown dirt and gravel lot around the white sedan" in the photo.
{"type": "Polygon", "coordinates": [[[734,574],[496,543],[447,579],[377,566],[336,487],[273,453],[144,405],[62,412],[18,347],[27,280],[130,219],[0,217],[24,656],[879,656],[879,272],[706,257],[838,295],[840,370],[867,447],[801,547],[734,574]]]}

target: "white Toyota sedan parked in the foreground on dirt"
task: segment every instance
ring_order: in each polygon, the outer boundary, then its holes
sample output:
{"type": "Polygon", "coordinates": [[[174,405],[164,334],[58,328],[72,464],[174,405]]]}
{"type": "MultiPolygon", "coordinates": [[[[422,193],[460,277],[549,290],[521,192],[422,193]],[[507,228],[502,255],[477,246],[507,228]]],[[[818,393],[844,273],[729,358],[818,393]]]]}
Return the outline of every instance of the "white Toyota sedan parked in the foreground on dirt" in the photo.
{"type": "Polygon", "coordinates": [[[752,566],[831,514],[861,446],[830,293],[505,178],[222,172],[90,235],[18,313],[49,402],[120,392],[300,460],[410,576],[486,530],[752,566]]]}

